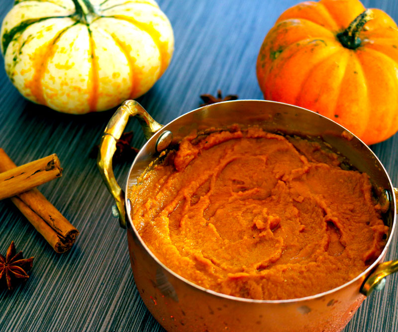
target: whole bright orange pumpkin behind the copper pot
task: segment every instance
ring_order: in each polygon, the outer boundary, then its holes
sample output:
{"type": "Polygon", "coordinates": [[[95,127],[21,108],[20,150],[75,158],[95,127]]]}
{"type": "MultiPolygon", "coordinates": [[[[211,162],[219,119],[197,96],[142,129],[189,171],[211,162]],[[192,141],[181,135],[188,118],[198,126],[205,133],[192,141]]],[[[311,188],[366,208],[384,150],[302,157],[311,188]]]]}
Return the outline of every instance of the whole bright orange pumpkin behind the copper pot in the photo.
{"type": "Polygon", "coordinates": [[[367,144],[398,130],[398,27],[358,0],[286,10],[261,46],[257,78],[264,99],[316,111],[367,144]]]}

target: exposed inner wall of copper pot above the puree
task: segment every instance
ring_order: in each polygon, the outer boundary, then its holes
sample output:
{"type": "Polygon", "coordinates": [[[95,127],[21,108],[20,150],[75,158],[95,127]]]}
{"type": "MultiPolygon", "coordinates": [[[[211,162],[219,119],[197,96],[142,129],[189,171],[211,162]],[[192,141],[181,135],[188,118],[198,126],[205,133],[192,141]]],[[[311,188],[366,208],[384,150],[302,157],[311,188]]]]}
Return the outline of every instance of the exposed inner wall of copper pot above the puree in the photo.
{"type": "MultiPolygon", "coordinates": [[[[394,190],[386,170],[369,147],[351,132],[322,115],[295,106],[269,101],[232,101],[202,107],[176,118],[155,133],[139,151],[128,175],[126,201],[130,198],[132,186],[138,183],[140,176],[159,160],[160,154],[156,152],[155,145],[162,132],[170,130],[174,137],[173,143],[178,143],[194,130],[199,133],[211,132],[233,124],[239,124],[242,128],[257,125],[269,132],[313,137],[323,142],[325,147],[338,151],[354,169],[367,173],[371,178],[374,195],[379,197],[380,202],[390,204],[390,208],[382,216],[385,224],[389,226],[390,233],[379,258],[353,280],[362,277],[378,264],[385,256],[391,241],[396,218],[394,190]]],[[[127,216],[127,222],[140,239],[132,224],[129,206],[127,216]]],[[[147,249],[143,242],[142,244],[147,249]]],[[[150,254],[156,259],[152,253],[150,254]]]]}

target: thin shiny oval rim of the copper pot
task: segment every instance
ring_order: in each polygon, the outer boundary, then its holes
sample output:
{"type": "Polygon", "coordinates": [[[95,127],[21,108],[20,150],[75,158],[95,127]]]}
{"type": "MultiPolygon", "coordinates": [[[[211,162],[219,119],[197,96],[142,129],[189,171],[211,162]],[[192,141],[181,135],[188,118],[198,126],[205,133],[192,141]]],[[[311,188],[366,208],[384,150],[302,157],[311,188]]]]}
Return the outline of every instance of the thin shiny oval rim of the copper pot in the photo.
{"type": "MultiPolygon", "coordinates": [[[[184,114],[181,114],[180,116],[174,118],[173,120],[171,120],[170,122],[168,122],[167,124],[165,124],[159,131],[162,131],[162,130],[165,130],[165,129],[167,130],[166,127],[167,127],[169,124],[173,123],[174,121],[177,121],[178,119],[180,119],[180,118],[186,116],[186,115],[189,114],[189,113],[193,113],[193,112],[196,112],[196,111],[202,110],[202,109],[204,109],[204,108],[208,108],[208,107],[213,107],[213,105],[226,104],[226,103],[242,103],[242,102],[259,102],[259,103],[267,103],[267,104],[271,103],[271,104],[285,105],[285,106],[289,106],[289,107],[292,107],[292,108],[298,108],[298,109],[301,109],[301,110],[304,110],[304,111],[308,111],[308,112],[314,113],[314,114],[316,114],[316,115],[318,115],[318,116],[321,116],[321,117],[323,117],[323,118],[325,118],[325,119],[327,119],[327,120],[329,120],[329,121],[334,122],[335,124],[337,124],[338,126],[340,126],[343,130],[346,130],[347,132],[351,133],[355,138],[357,138],[357,139],[360,141],[360,143],[361,143],[363,146],[365,146],[365,147],[371,152],[371,154],[373,154],[373,156],[374,156],[374,157],[376,158],[376,160],[379,162],[379,164],[380,164],[382,170],[384,171],[384,174],[386,175],[387,180],[388,180],[388,182],[389,182],[389,184],[390,184],[390,188],[391,188],[391,189],[394,188],[394,186],[393,186],[393,184],[392,184],[392,182],[391,182],[390,176],[389,176],[389,174],[387,173],[387,171],[386,171],[384,165],[382,164],[382,162],[379,160],[379,158],[376,156],[376,154],[372,151],[372,149],[371,149],[368,145],[366,145],[360,138],[358,138],[358,136],[356,136],[355,134],[353,134],[353,133],[352,133],[350,130],[348,130],[347,128],[343,127],[341,124],[339,124],[339,123],[333,121],[332,119],[329,119],[328,117],[326,117],[326,116],[324,116],[324,115],[321,115],[321,114],[316,113],[316,112],[314,112],[314,111],[310,111],[310,110],[304,109],[304,108],[302,108],[302,107],[298,107],[298,106],[295,106],[295,105],[287,104],[287,103],[274,102],[274,101],[268,101],[268,100],[256,100],[256,99],[241,99],[241,100],[235,100],[235,101],[220,102],[220,103],[216,103],[216,104],[211,104],[211,105],[207,105],[207,106],[202,106],[202,107],[199,107],[199,108],[197,108],[197,109],[195,109],[195,110],[188,111],[188,112],[186,112],[186,113],[184,113],[184,114]]],[[[150,142],[152,139],[154,139],[154,136],[152,136],[150,139],[148,139],[147,142],[145,142],[145,144],[140,148],[140,151],[138,152],[138,154],[145,148],[145,146],[146,146],[147,144],[149,144],[149,142],[150,142]]],[[[137,154],[137,156],[138,156],[138,154],[137,154]]],[[[128,188],[127,188],[127,187],[128,187],[128,182],[129,182],[128,180],[129,180],[129,178],[130,178],[130,174],[131,174],[132,169],[134,168],[134,165],[135,165],[136,160],[137,160],[137,157],[136,157],[136,158],[134,159],[134,161],[132,162],[131,167],[130,167],[130,169],[129,169],[129,171],[128,171],[128,176],[127,176],[127,180],[126,180],[126,184],[125,184],[125,190],[124,190],[124,202],[125,202],[126,215],[127,215],[127,217],[128,217],[128,218],[127,218],[127,219],[128,219],[128,226],[134,231],[136,237],[137,237],[138,240],[140,241],[141,245],[145,248],[145,250],[147,251],[147,253],[148,253],[148,254],[156,261],[156,263],[158,263],[163,269],[165,269],[167,272],[169,272],[170,274],[172,274],[172,275],[173,275],[174,277],[176,277],[177,279],[180,279],[180,280],[183,281],[184,283],[188,284],[189,286],[194,287],[194,288],[198,289],[199,291],[203,291],[203,292],[205,292],[205,293],[211,294],[211,295],[216,296],[216,297],[221,297],[221,298],[225,298],[225,299],[228,299],[228,300],[239,301],[239,302],[259,303],[259,304],[261,304],[261,303],[264,303],[264,304],[265,304],[265,303],[267,303],[267,304],[273,304],[273,303],[274,303],[274,304],[284,304],[284,303],[285,303],[285,304],[288,304],[288,303],[304,302],[304,301],[313,300],[313,299],[320,299],[320,298],[322,298],[323,296],[332,294],[332,293],[337,292],[337,291],[339,291],[339,290],[341,290],[341,289],[343,289],[343,288],[345,288],[345,287],[348,287],[349,285],[351,285],[351,284],[357,282],[359,279],[365,277],[368,273],[370,273],[377,265],[379,265],[380,261],[386,256],[387,250],[388,250],[388,248],[389,248],[389,246],[390,246],[390,243],[391,243],[392,238],[393,238],[393,235],[394,235],[395,226],[396,226],[396,221],[397,221],[397,208],[396,208],[396,207],[397,207],[397,203],[396,203],[396,199],[397,199],[397,198],[396,198],[396,196],[395,196],[394,190],[392,190],[392,191],[391,191],[392,201],[391,201],[390,204],[393,205],[393,209],[394,209],[394,219],[393,219],[393,223],[392,223],[392,226],[391,226],[390,236],[389,236],[389,238],[388,238],[388,240],[387,240],[387,243],[386,243],[386,245],[385,245],[383,251],[382,251],[381,254],[379,255],[379,257],[378,257],[366,270],[364,270],[364,271],[363,271],[362,273],[360,273],[358,276],[356,276],[355,278],[353,278],[353,279],[351,279],[350,281],[346,282],[345,284],[340,285],[340,286],[338,286],[338,287],[336,287],[336,288],[330,289],[330,290],[328,290],[328,291],[322,292],[322,293],[317,293],[317,294],[310,295],[310,296],[305,296],[305,297],[302,297],[302,298],[285,299],[285,300],[256,300],[256,299],[247,299],[247,298],[241,298],[241,297],[237,297],[237,296],[231,296],[231,295],[227,295],[227,294],[215,292],[215,291],[213,291],[213,290],[204,288],[204,287],[202,287],[202,286],[199,286],[199,285],[197,285],[197,284],[195,284],[195,283],[189,281],[188,279],[182,277],[181,275],[179,275],[178,273],[174,272],[174,271],[171,270],[169,267],[167,267],[164,263],[162,263],[162,262],[155,256],[155,254],[148,248],[148,246],[145,244],[145,242],[143,241],[143,239],[141,238],[141,236],[138,234],[138,231],[137,231],[137,229],[135,228],[135,226],[134,226],[134,224],[133,224],[133,222],[132,222],[132,220],[131,220],[131,215],[130,215],[130,213],[131,213],[130,199],[127,197],[127,194],[128,194],[128,191],[127,191],[128,188]]],[[[127,231],[129,231],[129,230],[128,230],[128,227],[127,227],[127,231]]]]}

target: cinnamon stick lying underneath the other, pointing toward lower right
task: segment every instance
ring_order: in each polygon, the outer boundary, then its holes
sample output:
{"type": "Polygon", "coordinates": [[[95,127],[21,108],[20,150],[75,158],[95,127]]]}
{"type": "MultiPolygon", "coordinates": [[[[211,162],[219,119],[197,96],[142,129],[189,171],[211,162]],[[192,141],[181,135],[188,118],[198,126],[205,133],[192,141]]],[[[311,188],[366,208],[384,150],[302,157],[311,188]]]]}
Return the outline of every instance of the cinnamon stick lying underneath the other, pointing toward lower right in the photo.
{"type": "MultiPolygon", "coordinates": [[[[0,175],[15,168],[14,162],[0,149],[0,175]]],[[[79,231],[37,188],[11,197],[11,201],[56,252],[62,253],[72,247],[79,231]]]]}

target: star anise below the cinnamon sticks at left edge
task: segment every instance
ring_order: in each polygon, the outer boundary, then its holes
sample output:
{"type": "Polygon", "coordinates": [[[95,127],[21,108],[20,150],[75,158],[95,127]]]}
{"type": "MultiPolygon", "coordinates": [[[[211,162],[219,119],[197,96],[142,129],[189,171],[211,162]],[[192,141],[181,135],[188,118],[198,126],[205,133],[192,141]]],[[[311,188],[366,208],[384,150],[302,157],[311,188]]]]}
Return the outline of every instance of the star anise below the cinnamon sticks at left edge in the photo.
{"type": "Polygon", "coordinates": [[[0,284],[3,286],[5,284],[10,291],[15,283],[29,278],[26,272],[32,268],[33,264],[33,257],[23,259],[22,251],[15,253],[15,245],[12,241],[5,258],[0,254],[0,284]]]}

